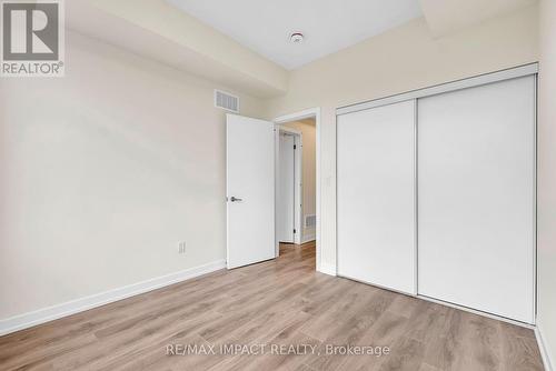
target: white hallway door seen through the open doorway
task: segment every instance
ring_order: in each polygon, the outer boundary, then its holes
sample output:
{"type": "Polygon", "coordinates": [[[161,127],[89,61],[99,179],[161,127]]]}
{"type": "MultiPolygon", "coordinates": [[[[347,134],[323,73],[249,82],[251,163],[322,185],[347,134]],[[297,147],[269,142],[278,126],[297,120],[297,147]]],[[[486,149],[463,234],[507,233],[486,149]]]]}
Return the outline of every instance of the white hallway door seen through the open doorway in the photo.
{"type": "Polygon", "coordinates": [[[278,241],[294,243],[295,228],[295,138],[280,133],[278,160],[278,241]]]}

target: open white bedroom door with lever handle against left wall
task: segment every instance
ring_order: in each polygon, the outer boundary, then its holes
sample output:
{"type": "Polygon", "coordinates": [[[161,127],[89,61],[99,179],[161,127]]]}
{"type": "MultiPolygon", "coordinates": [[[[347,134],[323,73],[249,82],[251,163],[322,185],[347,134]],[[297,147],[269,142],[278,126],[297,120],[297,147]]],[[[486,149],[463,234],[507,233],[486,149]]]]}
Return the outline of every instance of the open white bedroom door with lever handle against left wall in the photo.
{"type": "Polygon", "coordinates": [[[275,126],[226,117],[227,264],[275,258],[275,126]]]}

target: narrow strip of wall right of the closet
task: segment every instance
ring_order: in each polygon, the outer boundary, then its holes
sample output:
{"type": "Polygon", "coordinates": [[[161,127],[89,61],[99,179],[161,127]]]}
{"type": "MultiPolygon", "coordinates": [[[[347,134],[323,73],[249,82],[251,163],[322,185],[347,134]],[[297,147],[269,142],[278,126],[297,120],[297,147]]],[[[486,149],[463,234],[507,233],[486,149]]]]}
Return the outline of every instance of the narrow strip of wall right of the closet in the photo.
{"type": "Polygon", "coordinates": [[[556,367],[556,0],[543,0],[538,91],[538,328],[556,367]]]}

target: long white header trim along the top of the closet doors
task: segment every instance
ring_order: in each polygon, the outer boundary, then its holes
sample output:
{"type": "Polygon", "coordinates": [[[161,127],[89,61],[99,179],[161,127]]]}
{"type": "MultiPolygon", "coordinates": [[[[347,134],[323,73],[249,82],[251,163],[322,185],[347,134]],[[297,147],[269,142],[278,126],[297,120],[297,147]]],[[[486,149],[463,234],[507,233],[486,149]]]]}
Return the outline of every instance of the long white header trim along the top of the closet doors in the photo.
{"type": "Polygon", "coordinates": [[[410,99],[418,99],[418,98],[424,98],[424,97],[436,96],[436,94],[440,94],[440,93],[448,92],[448,91],[455,91],[455,90],[460,90],[460,89],[466,89],[466,88],[471,88],[471,87],[484,86],[484,84],[492,83],[492,82],[520,78],[524,76],[529,76],[529,74],[535,74],[535,73],[538,73],[538,63],[525,64],[525,66],[520,66],[520,67],[516,67],[516,68],[510,68],[507,70],[480,74],[480,76],[476,76],[476,77],[467,78],[467,79],[463,79],[463,80],[446,82],[446,83],[441,83],[441,84],[437,84],[437,86],[433,86],[433,87],[428,87],[428,88],[424,88],[424,89],[417,89],[417,90],[404,92],[400,94],[384,97],[384,98],[375,99],[375,100],[363,102],[363,103],[355,103],[355,104],[350,104],[350,106],[340,107],[340,108],[336,109],[336,116],[363,111],[363,110],[367,110],[369,108],[375,108],[375,107],[379,107],[379,106],[393,104],[393,103],[397,103],[397,102],[401,102],[401,101],[406,101],[406,100],[410,100],[410,99]]]}

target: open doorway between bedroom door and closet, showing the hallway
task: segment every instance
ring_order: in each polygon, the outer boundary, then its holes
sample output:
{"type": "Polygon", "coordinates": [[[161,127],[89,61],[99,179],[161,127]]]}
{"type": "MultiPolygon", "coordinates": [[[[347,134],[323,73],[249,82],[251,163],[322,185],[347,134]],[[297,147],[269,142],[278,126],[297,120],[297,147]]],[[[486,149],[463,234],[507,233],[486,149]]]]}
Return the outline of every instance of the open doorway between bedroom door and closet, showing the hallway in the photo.
{"type": "Polygon", "coordinates": [[[291,249],[318,248],[317,141],[319,110],[307,110],[275,120],[276,163],[276,255],[291,249]]]}

